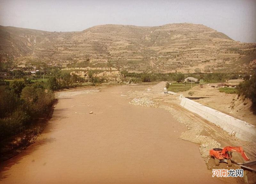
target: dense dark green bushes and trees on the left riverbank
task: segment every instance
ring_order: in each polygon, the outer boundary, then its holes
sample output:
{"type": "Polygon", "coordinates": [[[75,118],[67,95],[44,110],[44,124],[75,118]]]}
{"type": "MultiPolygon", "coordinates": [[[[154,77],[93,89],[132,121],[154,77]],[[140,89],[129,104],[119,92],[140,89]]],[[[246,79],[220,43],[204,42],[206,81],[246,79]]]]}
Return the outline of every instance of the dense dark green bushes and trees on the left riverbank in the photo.
{"type": "Polygon", "coordinates": [[[30,80],[1,80],[0,84],[1,140],[25,130],[51,110],[54,94],[46,84],[30,80]]]}

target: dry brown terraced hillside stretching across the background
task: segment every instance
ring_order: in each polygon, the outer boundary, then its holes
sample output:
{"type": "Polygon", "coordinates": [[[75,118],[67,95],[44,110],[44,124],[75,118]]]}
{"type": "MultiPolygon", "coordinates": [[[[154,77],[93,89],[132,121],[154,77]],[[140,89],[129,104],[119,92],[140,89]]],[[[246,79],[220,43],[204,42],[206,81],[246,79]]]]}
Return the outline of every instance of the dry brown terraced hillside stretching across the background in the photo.
{"type": "Polygon", "coordinates": [[[45,32],[0,26],[2,61],[44,61],[65,67],[115,67],[152,72],[253,70],[256,44],[230,39],[204,25],[98,25],[81,32],[45,32]],[[71,64],[71,65],[70,65],[71,64]]]}

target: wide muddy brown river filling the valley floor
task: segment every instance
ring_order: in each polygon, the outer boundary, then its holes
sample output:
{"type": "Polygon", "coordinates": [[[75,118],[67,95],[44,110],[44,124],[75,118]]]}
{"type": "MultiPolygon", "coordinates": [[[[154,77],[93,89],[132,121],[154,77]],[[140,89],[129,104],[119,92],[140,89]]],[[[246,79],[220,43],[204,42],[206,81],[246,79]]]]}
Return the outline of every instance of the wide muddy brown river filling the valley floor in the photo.
{"type": "Polygon", "coordinates": [[[212,178],[198,145],[177,138],[186,126],[169,112],[129,104],[132,89],[145,86],[59,92],[36,143],[1,164],[1,183],[234,182],[212,178]]]}

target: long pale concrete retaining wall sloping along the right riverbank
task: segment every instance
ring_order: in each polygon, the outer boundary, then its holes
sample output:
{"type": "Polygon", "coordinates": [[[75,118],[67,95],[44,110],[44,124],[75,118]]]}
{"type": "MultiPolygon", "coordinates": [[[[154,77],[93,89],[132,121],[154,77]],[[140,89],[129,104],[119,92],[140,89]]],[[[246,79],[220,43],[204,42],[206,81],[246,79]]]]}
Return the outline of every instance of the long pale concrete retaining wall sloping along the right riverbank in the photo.
{"type": "Polygon", "coordinates": [[[246,141],[256,142],[256,127],[245,121],[224,114],[218,110],[206,107],[188,98],[181,97],[180,105],[204,119],[220,126],[229,134],[246,141]]]}

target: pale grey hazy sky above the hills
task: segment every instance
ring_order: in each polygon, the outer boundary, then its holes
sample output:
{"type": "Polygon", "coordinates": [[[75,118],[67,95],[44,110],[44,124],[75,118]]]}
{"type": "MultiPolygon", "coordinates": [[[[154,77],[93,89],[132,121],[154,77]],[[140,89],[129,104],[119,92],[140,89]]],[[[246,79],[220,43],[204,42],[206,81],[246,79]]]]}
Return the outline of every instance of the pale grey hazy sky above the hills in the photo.
{"type": "Polygon", "coordinates": [[[0,0],[0,25],[44,31],[183,22],[256,42],[256,0],[0,0]]]}

